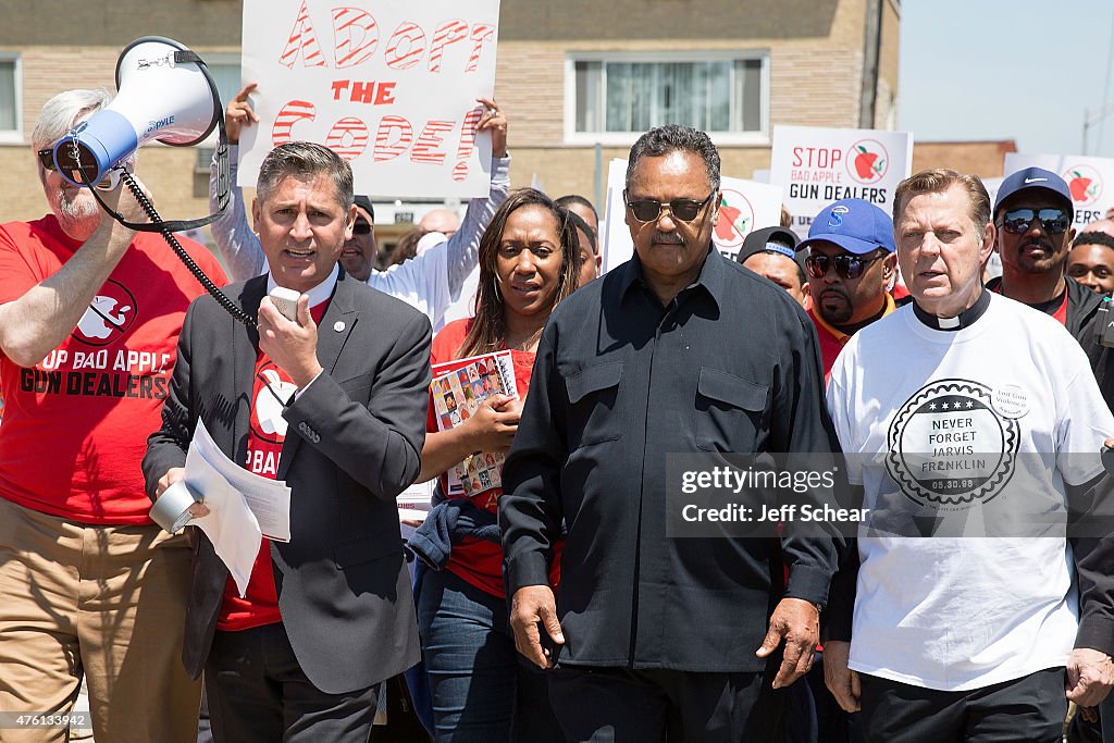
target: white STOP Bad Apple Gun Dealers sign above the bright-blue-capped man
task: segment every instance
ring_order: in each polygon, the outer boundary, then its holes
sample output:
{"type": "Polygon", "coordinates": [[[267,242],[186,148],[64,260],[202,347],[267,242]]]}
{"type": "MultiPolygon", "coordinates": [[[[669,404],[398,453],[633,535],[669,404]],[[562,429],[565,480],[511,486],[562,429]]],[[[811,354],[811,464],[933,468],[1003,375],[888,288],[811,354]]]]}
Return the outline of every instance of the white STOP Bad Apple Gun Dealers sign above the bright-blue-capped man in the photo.
{"type": "Polygon", "coordinates": [[[892,212],[893,192],[912,166],[912,135],[874,129],[776,126],[770,183],[784,186],[793,229],[832,202],[861,198],[892,212]]]}

